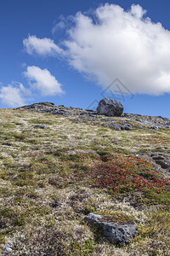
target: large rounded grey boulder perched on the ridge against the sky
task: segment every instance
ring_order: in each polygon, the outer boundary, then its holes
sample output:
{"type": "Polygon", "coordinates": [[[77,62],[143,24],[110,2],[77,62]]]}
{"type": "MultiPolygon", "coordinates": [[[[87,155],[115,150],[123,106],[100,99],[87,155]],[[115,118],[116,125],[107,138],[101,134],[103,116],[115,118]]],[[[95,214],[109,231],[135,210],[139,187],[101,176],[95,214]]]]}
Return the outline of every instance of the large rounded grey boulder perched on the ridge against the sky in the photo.
{"type": "Polygon", "coordinates": [[[123,112],[123,106],[121,102],[104,98],[99,102],[96,110],[97,113],[106,116],[121,116],[123,112]]]}

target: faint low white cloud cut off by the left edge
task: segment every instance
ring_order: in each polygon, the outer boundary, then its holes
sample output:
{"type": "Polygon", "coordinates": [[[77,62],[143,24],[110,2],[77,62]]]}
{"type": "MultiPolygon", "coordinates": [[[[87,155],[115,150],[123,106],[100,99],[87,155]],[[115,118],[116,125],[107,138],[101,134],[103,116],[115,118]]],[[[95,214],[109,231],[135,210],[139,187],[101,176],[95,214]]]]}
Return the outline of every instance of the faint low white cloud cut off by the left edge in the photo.
{"type": "Polygon", "coordinates": [[[0,88],[0,99],[9,107],[20,107],[25,105],[24,96],[28,93],[30,94],[29,90],[26,90],[23,84],[15,82],[0,88]]]}

